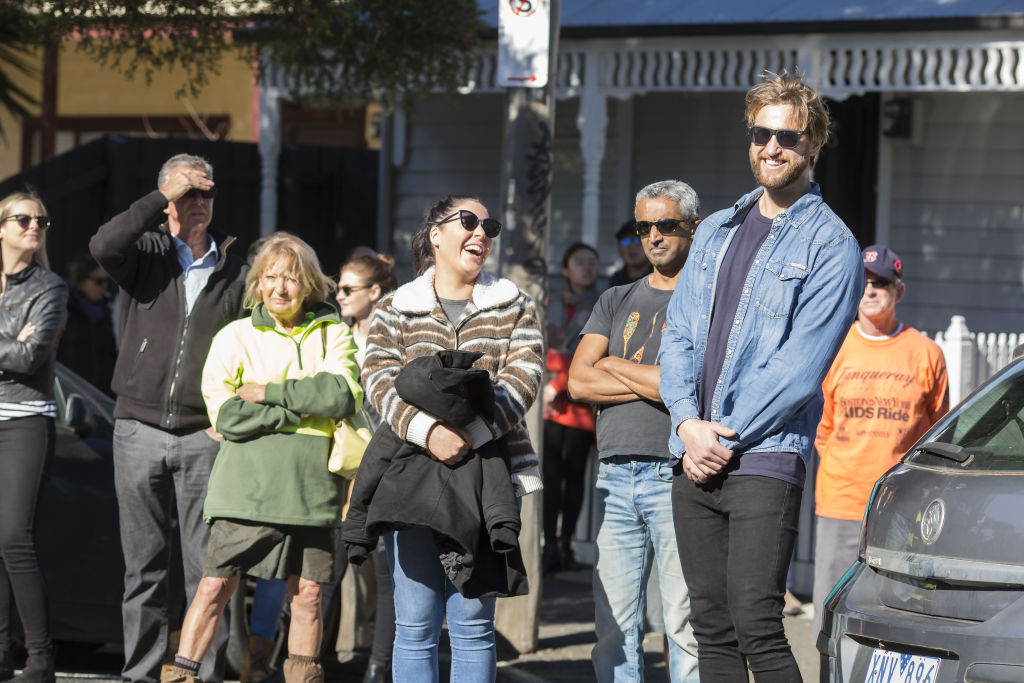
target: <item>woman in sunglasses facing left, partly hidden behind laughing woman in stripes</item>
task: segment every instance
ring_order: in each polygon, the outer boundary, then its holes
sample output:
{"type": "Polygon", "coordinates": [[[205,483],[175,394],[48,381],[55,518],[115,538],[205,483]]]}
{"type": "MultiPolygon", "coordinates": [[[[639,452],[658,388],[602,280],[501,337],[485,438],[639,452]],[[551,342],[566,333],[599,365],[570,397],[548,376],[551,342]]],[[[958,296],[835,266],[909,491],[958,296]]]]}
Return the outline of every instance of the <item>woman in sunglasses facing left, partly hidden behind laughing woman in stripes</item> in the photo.
{"type": "MultiPolygon", "coordinates": [[[[367,337],[370,333],[374,307],[381,297],[397,288],[394,259],[386,254],[370,255],[353,252],[353,256],[341,266],[338,275],[338,306],[342,316],[352,321],[352,337],[356,346],[355,360],[360,368],[366,357],[367,337]]],[[[367,401],[364,408],[373,423],[378,424],[380,416],[373,410],[370,401],[367,401]]],[[[362,683],[389,683],[391,649],[394,645],[394,590],[391,586],[391,571],[387,565],[387,553],[384,551],[383,541],[371,553],[371,557],[377,587],[377,604],[373,645],[362,683]]],[[[361,566],[355,568],[359,569],[361,566]]]]}

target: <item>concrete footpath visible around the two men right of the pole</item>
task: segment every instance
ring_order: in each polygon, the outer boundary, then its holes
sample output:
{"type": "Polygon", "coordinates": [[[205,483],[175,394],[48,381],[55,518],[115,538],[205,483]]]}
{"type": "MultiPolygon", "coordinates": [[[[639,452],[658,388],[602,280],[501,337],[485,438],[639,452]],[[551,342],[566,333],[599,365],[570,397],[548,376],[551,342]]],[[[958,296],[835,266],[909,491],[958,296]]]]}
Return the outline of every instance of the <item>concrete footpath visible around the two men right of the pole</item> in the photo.
{"type": "MultiPolygon", "coordinates": [[[[785,617],[785,630],[805,683],[818,680],[818,653],[811,642],[812,606],[785,617]]],[[[668,683],[662,653],[663,636],[644,641],[644,678],[668,683]]],[[[499,648],[498,680],[506,683],[577,683],[594,681],[590,650],[594,646],[594,599],[591,570],[560,572],[544,580],[540,643],[536,652],[517,654],[499,648]]],[[[446,680],[446,679],[442,679],[446,680]]]]}

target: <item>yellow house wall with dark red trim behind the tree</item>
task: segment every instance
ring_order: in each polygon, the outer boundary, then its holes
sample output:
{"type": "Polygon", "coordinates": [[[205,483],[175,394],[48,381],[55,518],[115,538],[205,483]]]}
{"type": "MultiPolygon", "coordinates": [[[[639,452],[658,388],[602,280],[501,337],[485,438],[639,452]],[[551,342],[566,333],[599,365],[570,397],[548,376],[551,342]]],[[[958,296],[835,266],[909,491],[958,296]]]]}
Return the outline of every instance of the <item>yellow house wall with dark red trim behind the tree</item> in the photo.
{"type": "MultiPolygon", "coordinates": [[[[41,53],[26,57],[36,74],[26,76],[12,71],[11,77],[38,100],[42,96],[41,53]]],[[[146,85],[141,73],[128,80],[121,73],[104,69],[77,52],[70,42],[65,43],[57,63],[58,117],[176,117],[189,122],[190,112],[196,112],[201,118],[204,115],[228,118],[229,129],[215,131],[220,139],[254,141],[258,137],[254,126],[256,98],[252,63],[234,54],[225,55],[220,74],[212,75],[210,83],[195,98],[175,95],[181,85],[180,71],[158,72],[146,85]]],[[[38,108],[34,111],[38,112],[38,108]]],[[[23,129],[22,121],[2,110],[0,125],[4,132],[0,137],[0,178],[5,178],[22,170],[23,129]]],[[[196,128],[190,124],[189,127],[196,128]]],[[[103,132],[122,131],[97,131],[95,136],[103,132]]],[[[88,139],[89,136],[85,136],[80,141],[88,139]]],[[[58,154],[73,145],[67,134],[58,133],[56,142],[58,154]]]]}

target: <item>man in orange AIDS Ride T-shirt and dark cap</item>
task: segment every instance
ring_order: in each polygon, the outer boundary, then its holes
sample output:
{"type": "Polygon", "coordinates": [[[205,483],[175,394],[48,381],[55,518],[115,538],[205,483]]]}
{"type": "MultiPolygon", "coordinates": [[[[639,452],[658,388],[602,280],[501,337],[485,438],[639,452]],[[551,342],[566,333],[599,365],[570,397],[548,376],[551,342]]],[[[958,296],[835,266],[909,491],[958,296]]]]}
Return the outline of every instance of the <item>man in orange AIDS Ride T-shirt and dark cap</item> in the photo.
{"type": "Polygon", "coordinates": [[[903,262],[885,245],[862,252],[857,321],[821,385],[814,445],[814,627],[824,600],[857,559],[860,521],[874,481],[949,410],[946,360],[931,339],[896,317],[903,262]]]}

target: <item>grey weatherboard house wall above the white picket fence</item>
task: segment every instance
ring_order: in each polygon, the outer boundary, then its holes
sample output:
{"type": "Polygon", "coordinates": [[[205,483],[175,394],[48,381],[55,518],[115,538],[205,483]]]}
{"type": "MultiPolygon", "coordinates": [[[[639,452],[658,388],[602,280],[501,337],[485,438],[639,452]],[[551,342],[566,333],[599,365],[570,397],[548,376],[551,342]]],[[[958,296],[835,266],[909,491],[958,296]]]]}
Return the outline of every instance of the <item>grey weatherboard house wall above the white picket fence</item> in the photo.
{"type": "Polygon", "coordinates": [[[899,316],[927,331],[954,313],[973,331],[1024,330],[1024,93],[914,99],[920,143],[882,142],[892,179],[880,241],[905,264],[899,316]]]}

